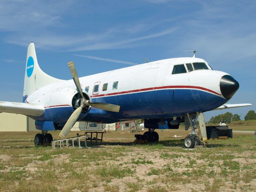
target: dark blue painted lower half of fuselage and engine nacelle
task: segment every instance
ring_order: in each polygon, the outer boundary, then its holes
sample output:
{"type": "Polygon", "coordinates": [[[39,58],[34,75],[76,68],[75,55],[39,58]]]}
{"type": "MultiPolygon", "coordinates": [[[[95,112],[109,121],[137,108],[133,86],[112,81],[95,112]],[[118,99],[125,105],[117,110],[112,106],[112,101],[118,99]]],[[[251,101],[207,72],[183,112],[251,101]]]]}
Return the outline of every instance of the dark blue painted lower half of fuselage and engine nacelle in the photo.
{"type": "MultiPolygon", "coordinates": [[[[209,111],[224,104],[227,100],[202,90],[166,89],[152,90],[92,98],[92,102],[105,102],[120,105],[120,112],[108,112],[91,108],[80,116],[80,120],[92,122],[118,122],[120,119],[168,118],[190,112],[209,111]]],[[[74,112],[72,107],[46,109],[38,120],[56,123],[68,120],[74,112]]]]}

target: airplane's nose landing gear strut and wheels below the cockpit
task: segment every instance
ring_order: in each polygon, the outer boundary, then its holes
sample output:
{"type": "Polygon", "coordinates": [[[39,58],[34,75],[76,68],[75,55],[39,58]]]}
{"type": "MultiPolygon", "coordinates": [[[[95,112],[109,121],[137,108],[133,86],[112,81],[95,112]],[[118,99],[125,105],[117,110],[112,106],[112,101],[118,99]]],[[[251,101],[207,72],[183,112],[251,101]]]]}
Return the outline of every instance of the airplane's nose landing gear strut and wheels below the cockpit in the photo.
{"type": "Polygon", "coordinates": [[[186,125],[186,121],[185,121],[185,129],[188,130],[188,127],[191,126],[191,133],[188,134],[188,136],[186,136],[186,138],[184,139],[184,147],[185,148],[192,149],[192,148],[194,148],[194,146],[200,145],[200,143],[201,143],[201,140],[198,137],[198,135],[200,133],[195,132],[195,130],[197,128],[196,121],[198,119],[199,114],[200,113],[186,114],[188,117],[188,118],[186,118],[188,120],[188,125],[186,125]]]}

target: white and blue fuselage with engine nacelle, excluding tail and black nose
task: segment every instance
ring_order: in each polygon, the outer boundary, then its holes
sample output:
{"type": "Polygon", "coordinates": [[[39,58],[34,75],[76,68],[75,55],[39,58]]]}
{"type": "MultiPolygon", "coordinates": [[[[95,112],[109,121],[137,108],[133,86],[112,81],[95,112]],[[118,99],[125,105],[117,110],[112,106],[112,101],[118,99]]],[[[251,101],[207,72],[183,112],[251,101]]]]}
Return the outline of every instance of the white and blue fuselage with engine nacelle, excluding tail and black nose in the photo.
{"type": "MultiPolygon", "coordinates": [[[[90,108],[79,120],[110,123],[213,110],[229,99],[220,90],[225,75],[200,58],[172,58],[85,76],[79,80],[90,100],[119,105],[120,111],[90,108]],[[193,63],[204,63],[207,69],[196,70],[193,63]],[[177,65],[184,65],[185,71],[179,66],[175,73],[177,65]]],[[[72,98],[76,94],[74,81],[66,80],[36,90],[25,101],[45,108],[42,116],[33,119],[62,124],[74,112],[72,98]]]]}

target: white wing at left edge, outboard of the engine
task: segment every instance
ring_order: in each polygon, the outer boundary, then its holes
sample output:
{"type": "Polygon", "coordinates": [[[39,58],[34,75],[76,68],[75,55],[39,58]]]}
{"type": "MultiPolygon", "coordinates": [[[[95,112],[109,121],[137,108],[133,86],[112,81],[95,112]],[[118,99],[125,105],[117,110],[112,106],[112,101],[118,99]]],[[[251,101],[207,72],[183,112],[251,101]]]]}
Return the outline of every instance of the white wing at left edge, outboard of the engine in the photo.
{"type": "Polygon", "coordinates": [[[0,101],[0,113],[2,112],[40,116],[44,113],[44,106],[40,104],[0,101]]]}

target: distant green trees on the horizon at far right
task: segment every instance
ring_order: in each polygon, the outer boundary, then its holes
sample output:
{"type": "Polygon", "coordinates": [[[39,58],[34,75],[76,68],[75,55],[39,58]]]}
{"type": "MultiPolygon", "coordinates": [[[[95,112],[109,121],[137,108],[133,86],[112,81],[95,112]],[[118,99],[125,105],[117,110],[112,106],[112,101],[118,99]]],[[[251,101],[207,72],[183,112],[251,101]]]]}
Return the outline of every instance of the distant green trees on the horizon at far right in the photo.
{"type": "MultiPolygon", "coordinates": [[[[238,114],[234,114],[233,115],[230,112],[226,112],[225,114],[220,114],[220,115],[212,117],[209,120],[209,123],[218,124],[218,123],[222,122],[222,123],[229,124],[232,121],[239,121],[239,120],[241,120],[241,116],[240,115],[238,115],[238,114]]],[[[247,120],[256,120],[256,113],[255,113],[255,111],[254,110],[248,111],[246,116],[244,116],[244,120],[245,121],[247,121],[247,120]]]]}

